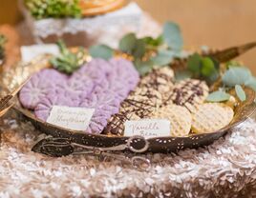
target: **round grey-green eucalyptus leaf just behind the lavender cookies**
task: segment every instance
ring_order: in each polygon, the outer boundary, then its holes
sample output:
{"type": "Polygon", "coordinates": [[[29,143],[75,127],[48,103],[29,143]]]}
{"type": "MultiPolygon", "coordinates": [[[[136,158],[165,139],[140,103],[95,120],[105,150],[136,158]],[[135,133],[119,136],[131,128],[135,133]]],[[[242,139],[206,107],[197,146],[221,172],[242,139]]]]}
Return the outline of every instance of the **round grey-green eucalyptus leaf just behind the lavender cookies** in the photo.
{"type": "Polygon", "coordinates": [[[89,49],[89,53],[94,58],[103,58],[108,60],[113,57],[114,50],[105,45],[96,45],[89,49]]]}

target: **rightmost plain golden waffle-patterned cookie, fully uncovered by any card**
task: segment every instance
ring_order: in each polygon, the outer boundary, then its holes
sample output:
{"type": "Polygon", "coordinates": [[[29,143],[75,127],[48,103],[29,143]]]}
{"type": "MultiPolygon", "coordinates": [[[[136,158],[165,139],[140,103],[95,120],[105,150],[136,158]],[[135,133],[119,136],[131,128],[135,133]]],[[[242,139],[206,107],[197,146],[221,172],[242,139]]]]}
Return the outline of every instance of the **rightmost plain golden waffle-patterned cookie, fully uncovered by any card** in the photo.
{"type": "Polygon", "coordinates": [[[195,133],[214,132],[227,126],[234,111],[222,103],[205,103],[192,113],[192,130],[195,133]]]}

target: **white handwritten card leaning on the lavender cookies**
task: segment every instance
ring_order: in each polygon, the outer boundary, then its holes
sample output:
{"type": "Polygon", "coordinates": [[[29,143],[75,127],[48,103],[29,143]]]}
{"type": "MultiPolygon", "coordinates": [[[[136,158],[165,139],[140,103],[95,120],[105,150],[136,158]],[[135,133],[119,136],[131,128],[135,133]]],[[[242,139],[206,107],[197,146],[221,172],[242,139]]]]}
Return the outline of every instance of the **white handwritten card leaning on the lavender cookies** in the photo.
{"type": "Polygon", "coordinates": [[[95,109],[53,106],[47,122],[66,129],[85,130],[94,112],[95,109]]]}

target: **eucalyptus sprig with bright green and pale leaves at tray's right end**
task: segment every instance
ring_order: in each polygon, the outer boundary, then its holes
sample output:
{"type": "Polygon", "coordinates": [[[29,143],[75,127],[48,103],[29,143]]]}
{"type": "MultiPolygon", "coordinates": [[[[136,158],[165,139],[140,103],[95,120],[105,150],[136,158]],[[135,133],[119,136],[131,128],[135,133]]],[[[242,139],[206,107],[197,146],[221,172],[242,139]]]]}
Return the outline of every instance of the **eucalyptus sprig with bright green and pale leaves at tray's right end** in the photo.
{"type": "Polygon", "coordinates": [[[217,80],[221,82],[221,88],[211,92],[206,101],[224,102],[229,100],[230,89],[235,89],[237,97],[245,101],[246,95],[243,87],[256,90],[256,78],[249,69],[242,67],[238,62],[228,62],[221,70],[220,64],[210,56],[202,56],[194,53],[188,57],[186,68],[176,72],[176,80],[185,78],[198,78],[212,84],[217,80]]]}

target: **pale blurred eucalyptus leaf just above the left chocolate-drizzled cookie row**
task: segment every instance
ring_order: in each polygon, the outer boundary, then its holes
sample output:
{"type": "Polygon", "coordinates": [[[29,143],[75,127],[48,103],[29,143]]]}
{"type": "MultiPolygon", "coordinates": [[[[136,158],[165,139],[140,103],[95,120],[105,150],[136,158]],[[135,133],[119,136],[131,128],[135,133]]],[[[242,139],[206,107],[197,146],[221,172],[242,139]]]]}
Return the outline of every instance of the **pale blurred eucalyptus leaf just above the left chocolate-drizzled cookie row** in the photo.
{"type": "Polygon", "coordinates": [[[151,58],[151,61],[156,66],[166,66],[174,59],[174,52],[172,50],[159,50],[158,54],[151,58]]]}

